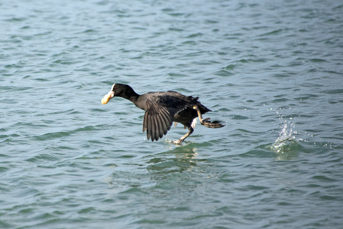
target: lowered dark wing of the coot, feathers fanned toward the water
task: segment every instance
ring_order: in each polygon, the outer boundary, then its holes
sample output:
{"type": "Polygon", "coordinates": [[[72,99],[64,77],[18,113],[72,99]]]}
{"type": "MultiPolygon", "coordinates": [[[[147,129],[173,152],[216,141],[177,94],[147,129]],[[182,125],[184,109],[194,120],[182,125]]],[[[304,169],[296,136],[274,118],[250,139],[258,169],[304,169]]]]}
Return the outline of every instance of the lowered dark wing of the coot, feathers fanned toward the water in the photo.
{"type": "Polygon", "coordinates": [[[148,140],[157,141],[170,130],[174,116],[187,108],[187,102],[178,97],[154,95],[146,99],[143,132],[148,140]]]}

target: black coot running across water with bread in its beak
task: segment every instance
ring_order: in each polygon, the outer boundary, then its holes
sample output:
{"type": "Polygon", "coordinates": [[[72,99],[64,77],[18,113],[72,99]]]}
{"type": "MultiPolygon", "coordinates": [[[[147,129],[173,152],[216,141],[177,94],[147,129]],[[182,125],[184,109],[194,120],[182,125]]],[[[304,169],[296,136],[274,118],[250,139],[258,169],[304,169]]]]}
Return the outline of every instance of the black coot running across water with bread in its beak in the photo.
{"type": "Polygon", "coordinates": [[[104,97],[103,104],[115,96],[130,100],[136,107],[145,110],[143,120],[143,132],[146,131],[148,140],[158,140],[166,135],[173,122],[179,122],[188,128],[189,132],[175,144],[181,144],[186,137],[194,131],[197,117],[201,125],[209,128],[221,128],[225,125],[220,121],[209,121],[210,118],[203,119],[201,115],[211,111],[200,103],[199,97],[185,96],[175,91],[148,92],[139,95],[126,84],[113,84],[111,91],[104,97]],[[105,97],[107,98],[105,99],[105,97]]]}

